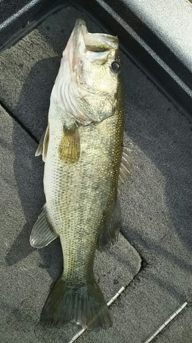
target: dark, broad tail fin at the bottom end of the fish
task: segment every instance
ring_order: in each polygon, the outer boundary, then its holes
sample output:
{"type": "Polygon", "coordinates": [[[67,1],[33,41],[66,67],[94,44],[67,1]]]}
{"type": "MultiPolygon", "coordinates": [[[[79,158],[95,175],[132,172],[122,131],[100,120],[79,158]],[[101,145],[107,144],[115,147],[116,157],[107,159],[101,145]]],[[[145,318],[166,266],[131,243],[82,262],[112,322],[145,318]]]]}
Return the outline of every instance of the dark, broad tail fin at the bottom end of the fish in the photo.
{"type": "Polygon", "coordinates": [[[46,300],[41,320],[59,327],[74,320],[89,330],[106,329],[112,324],[109,309],[94,279],[71,286],[62,277],[46,300]]]}

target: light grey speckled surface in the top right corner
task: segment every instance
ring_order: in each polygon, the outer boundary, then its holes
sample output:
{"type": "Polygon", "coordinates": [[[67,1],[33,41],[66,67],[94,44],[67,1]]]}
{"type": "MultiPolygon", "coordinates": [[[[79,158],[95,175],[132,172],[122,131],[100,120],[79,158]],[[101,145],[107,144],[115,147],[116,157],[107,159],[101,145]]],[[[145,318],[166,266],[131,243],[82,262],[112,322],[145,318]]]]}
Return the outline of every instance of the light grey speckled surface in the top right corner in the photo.
{"type": "Polygon", "coordinates": [[[192,71],[192,5],[189,0],[125,0],[171,51],[192,71]]]}

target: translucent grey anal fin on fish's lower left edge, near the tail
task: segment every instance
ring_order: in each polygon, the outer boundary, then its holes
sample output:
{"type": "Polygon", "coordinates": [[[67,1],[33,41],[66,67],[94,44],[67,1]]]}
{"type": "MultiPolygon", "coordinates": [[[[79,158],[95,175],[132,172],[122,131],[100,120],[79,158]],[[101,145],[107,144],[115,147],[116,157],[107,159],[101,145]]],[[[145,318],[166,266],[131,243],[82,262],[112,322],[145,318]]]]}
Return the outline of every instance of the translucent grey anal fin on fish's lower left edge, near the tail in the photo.
{"type": "Polygon", "coordinates": [[[30,244],[33,248],[40,249],[47,246],[57,237],[58,235],[53,231],[53,228],[47,219],[46,205],[44,205],[36,224],[33,226],[30,244]]]}

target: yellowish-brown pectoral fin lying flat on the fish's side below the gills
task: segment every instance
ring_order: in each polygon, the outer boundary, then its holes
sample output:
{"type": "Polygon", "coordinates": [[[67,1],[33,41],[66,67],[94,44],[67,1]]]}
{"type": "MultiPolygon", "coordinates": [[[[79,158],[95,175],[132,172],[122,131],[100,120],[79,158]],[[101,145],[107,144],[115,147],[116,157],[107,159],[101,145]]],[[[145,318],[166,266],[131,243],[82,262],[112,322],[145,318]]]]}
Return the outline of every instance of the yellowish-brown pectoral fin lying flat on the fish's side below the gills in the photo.
{"type": "Polygon", "coordinates": [[[59,158],[66,164],[74,164],[79,161],[80,139],[77,124],[72,128],[65,129],[59,144],[59,158]]]}

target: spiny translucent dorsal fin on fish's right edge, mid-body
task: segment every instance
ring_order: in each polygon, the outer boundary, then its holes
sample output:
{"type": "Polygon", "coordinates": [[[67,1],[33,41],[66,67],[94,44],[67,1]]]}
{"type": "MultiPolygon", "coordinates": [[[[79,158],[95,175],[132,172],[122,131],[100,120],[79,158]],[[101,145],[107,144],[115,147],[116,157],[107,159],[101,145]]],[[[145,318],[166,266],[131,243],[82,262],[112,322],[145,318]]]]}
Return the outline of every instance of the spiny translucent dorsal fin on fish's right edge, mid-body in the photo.
{"type": "Polygon", "coordinates": [[[122,184],[130,176],[133,170],[133,156],[127,147],[123,147],[122,162],[120,164],[120,174],[118,178],[118,191],[122,189],[122,184]]]}

